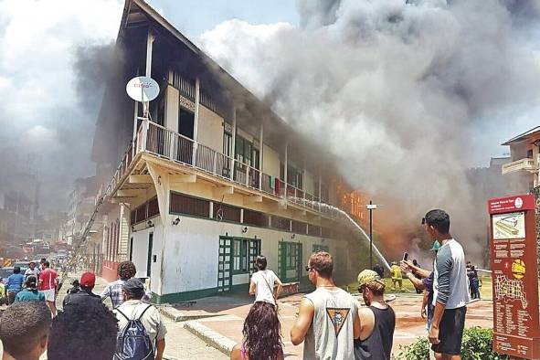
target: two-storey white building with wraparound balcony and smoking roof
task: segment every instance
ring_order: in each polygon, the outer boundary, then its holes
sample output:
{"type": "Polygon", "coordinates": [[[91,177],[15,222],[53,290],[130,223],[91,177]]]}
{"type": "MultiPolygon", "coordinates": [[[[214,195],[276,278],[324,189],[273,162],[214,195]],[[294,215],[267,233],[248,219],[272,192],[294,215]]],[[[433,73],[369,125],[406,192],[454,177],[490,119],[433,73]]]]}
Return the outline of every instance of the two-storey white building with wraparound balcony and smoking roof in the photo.
{"type": "Polygon", "coordinates": [[[131,259],[156,302],[175,302],[247,291],[259,254],[284,282],[306,281],[316,250],[338,277],[357,272],[359,240],[335,206],[363,217],[360,196],[344,196],[324,149],[141,0],[126,1],[116,46],[92,150],[105,202],[87,246],[105,278],[131,259]],[[138,75],[161,89],[148,116],[125,94],[138,75]]]}

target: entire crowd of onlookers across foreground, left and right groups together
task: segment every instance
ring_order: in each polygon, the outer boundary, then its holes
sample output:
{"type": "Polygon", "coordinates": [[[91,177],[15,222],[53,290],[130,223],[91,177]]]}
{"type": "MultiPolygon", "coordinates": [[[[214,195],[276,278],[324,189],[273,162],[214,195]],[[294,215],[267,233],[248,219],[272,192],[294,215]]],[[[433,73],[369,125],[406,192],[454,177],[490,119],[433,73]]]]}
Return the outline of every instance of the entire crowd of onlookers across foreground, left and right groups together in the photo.
{"type": "MultiPolygon", "coordinates": [[[[470,301],[468,277],[474,268],[467,268],[460,243],[451,237],[446,212],[429,211],[422,225],[435,239],[434,270],[424,270],[418,262],[404,259],[400,273],[425,291],[421,315],[427,318],[433,358],[460,360],[466,304],[470,301]]],[[[267,269],[264,256],[256,259],[255,266],[258,271],[249,284],[255,302],[244,322],[243,340],[232,349],[230,358],[283,359],[277,301],[282,283],[267,269]]],[[[303,358],[389,360],[396,314],[385,301],[384,270],[376,267],[359,273],[358,292],[365,305],[335,285],[330,253],[313,253],[305,270],[315,290],[302,297],[290,334],[291,344],[303,343],[303,358]]],[[[122,262],[119,280],[111,282],[100,295],[92,292],[95,274],[83,273],[69,289],[63,311],[58,313],[54,306],[58,274],[46,259],[38,270],[38,281],[35,268],[26,279],[20,271],[14,273],[8,281],[8,292],[16,293],[10,295],[13,301],[0,319],[4,358],[37,360],[47,351],[49,360],[161,360],[167,330],[160,312],[143,301],[147,294],[135,273],[131,261],[122,262]],[[107,298],[111,299],[112,310],[103,303],[107,298]]]]}

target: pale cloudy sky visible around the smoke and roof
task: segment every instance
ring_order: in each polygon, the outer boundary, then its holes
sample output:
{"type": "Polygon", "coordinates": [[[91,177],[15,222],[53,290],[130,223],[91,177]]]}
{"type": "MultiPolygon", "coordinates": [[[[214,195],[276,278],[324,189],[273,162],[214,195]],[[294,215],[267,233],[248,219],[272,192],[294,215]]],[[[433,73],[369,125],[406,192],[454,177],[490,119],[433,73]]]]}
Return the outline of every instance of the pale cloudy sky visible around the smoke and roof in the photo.
{"type": "MultiPolygon", "coordinates": [[[[196,43],[233,19],[268,28],[294,28],[301,21],[294,0],[150,4],[196,43]]],[[[116,37],[122,7],[118,0],[0,0],[0,166],[18,163],[42,176],[44,193],[55,198],[48,201],[49,207],[64,206],[73,180],[94,174],[89,134],[99,104],[88,106],[80,99],[75,64],[80,48],[116,37]]],[[[538,34],[532,38],[540,38],[538,34]]],[[[534,42],[531,47],[540,48],[534,42]]],[[[99,86],[95,91],[99,93],[99,86]]],[[[540,105],[522,104],[483,116],[499,121],[489,131],[471,128],[471,137],[486,144],[471,155],[475,166],[487,165],[491,156],[505,152],[500,143],[540,123],[540,105]]]]}

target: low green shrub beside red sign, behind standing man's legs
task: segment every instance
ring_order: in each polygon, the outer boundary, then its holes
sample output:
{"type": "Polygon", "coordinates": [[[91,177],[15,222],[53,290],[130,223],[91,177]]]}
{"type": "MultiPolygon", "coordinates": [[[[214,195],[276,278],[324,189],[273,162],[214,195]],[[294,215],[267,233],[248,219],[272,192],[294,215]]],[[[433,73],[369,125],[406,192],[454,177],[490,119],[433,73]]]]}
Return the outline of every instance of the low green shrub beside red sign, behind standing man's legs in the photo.
{"type": "MultiPolygon", "coordinates": [[[[461,343],[463,360],[507,360],[508,356],[498,355],[492,351],[492,329],[471,327],[465,329],[461,343]]],[[[427,360],[429,359],[428,337],[422,337],[413,344],[400,345],[399,354],[393,360],[427,360]]]]}

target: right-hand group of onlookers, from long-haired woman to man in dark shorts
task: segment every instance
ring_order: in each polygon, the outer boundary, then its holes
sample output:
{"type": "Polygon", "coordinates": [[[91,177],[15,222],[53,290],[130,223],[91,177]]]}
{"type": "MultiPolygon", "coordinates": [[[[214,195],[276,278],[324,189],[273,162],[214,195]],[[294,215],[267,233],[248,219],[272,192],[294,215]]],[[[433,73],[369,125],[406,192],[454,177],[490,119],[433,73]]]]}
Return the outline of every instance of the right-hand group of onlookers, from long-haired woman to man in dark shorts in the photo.
{"type": "MultiPolygon", "coordinates": [[[[420,268],[417,261],[404,259],[391,269],[394,286],[401,286],[403,274],[418,293],[424,291],[421,316],[427,319],[430,355],[435,359],[461,360],[461,338],[466,304],[470,301],[468,269],[461,244],[450,235],[450,216],[431,210],[422,225],[433,238],[434,270],[420,268]]],[[[266,259],[256,261],[258,272],[249,293],[255,295],[243,327],[243,341],[230,355],[233,360],[283,359],[281,323],[276,299],[281,281],[266,269],[266,259]],[[259,274],[259,275],[258,275],[259,274]]],[[[306,266],[315,291],[302,297],[291,343],[303,343],[304,359],[389,360],[396,314],[385,301],[384,269],[363,270],[358,275],[362,306],[333,280],[334,260],[328,252],[311,255],[306,266]]]]}

